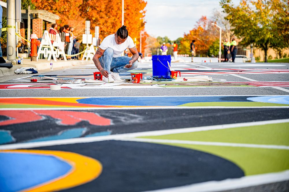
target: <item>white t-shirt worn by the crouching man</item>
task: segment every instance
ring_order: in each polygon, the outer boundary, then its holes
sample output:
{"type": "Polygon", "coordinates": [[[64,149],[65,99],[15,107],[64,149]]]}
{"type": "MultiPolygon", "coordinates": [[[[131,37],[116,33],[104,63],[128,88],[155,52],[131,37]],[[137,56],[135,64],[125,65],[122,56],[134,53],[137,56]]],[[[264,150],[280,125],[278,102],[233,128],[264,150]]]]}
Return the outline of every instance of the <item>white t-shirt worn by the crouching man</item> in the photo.
{"type": "Polygon", "coordinates": [[[125,42],[122,44],[116,44],[115,39],[114,39],[114,34],[111,34],[104,38],[104,40],[101,42],[99,45],[100,49],[106,50],[107,48],[112,48],[113,49],[113,57],[120,57],[121,53],[125,51],[125,49],[133,48],[134,47],[134,41],[131,39],[130,36],[127,37],[125,42]]]}

